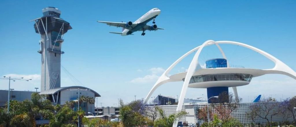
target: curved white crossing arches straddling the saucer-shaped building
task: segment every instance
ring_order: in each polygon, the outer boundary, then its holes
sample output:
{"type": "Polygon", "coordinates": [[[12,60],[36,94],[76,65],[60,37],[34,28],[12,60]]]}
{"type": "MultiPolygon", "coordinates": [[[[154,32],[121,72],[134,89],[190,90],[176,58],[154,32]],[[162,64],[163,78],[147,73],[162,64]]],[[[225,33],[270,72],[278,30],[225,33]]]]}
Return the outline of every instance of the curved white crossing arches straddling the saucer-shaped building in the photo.
{"type": "MultiPolygon", "coordinates": [[[[290,76],[294,79],[296,79],[296,72],[293,71],[289,66],[287,66],[286,64],[284,64],[282,61],[280,61],[279,59],[275,58],[274,56],[258,49],[258,48],[255,48],[253,46],[250,46],[250,45],[247,45],[247,44],[244,44],[244,43],[239,43],[239,42],[234,42],[234,41],[213,41],[213,40],[207,40],[205,43],[203,43],[202,45],[192,49],[191,51],[185,53],[183,56],[181,56],[180,58],[178,58],[178,60],[176,60],[161,76],[160,78],[157,80],[157,82],[154,84],[154,86],[152,87],[152,89],[150,90],[150,92],[148,93],[147,97],[145,98],[145,103],[148,101],[148,99],[150,98],[150,96],[152,95],[152,93],[155,91],[155,89],[157,89],[157,87],[159,87],[160,85],[166,83],[166,82],[175,82],[177,80],[175,79],[170,79],[168,77],[168,73],[176,66],[176,64],[178,64],[183,58],[185,58],[186,56],[188,56],[189,54],[193,53],[194,51],[197,51],[189,65],[189,68],[188,68],[188,72],[186,74],[186,77],[185,77],[185,80],[184,80],[184,83],[183,83],[183,87],[182,87],[182,90],[181,90],[181,94],[178,98],[179,100],[179,103],[178,103],[178,106],[177,106],[177,111],[180,111],[181,108],[182,108],[182,105],[183,105],[183,102],[184,102],[184,98],[185,98],[185,94],[186,94],[186,91],[187,91],[187,87],[188,87],[188,84],[189,84],[189,80],[190,78],[192,77],[192,75],[194,74],[194,72],[198,69],[201,69],[199,63],[198,63],[198,57],[200,55],[200,52],[202,51],[202,49],[205,47],[205,46],[209,46],[209,45],[217,45],[217,47],[219,48],[219,50],[221,51],[222,53],[222,56],[223,58],[226,58],[223,50],[221,49],[221,47],[218,45],[218,44],[232,44],[232,45],[239,45],[239,46],[242,46],[242,47],[245,47],[245,48],[249,48],[253,51],[256,51],[258,53],[260,53],[261,55],[265,56],[266,58],[270,59],[271,61],[273,61],[275,63],[275,66],[274,68],[272,69],[264,69],[264,74],[284,74],[284,75],[287,75],[287,76],[290,76]]],[[[227,67],[229,67],[229,64],[227,65],[227,67]]],[[[234,90],[234,94],[237,97],[237,88],[236,87],[233,87],[233,90],[234,90]]]]}

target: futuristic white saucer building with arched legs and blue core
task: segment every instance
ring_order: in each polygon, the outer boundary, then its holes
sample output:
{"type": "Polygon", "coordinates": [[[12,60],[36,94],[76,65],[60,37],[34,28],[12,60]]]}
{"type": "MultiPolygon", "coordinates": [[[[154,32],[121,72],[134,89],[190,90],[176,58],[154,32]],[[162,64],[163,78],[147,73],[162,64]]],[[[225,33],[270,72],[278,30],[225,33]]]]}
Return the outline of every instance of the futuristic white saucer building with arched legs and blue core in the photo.
{"type": "MultiPolygon", "coordinates": [[[[247,85],[251,82],[252,78],[262,76],[265,74],[283,74],[287,75],[293,79],[296,79],[296,72],[292,70],[289,66],[284,64],[279,59],[275,58],[274,56],[258,49],[253,46],[234,42],[234,41],[213,41],[207,40],[202,45],[192,49],[191,51],[185,53],[183,56],[178,58],[164,73],[159,77],[157,82],[154,84],[152,89],[149,91],[147,97],[144,100],[144,103],[150,99],[152,93],[160,86],[167,82],[183,82],[183,86],[181,89],[181,93],[178,96],[178,105],[167,105],[163,107],[168,107],[170,113],[175,113],[176,111],[191,109],[194,110],[194,105],[187,105],[184,103],[185,95],[187,88],[206,88],[207,89],[207,103],[212,103],[215,99],[219,98],[219,95],[223,92],[228,93],[228,88],[231,87],[234,91],[235,99],[238,101],[238,92],[237,87],[247,85]],[[251,69],[251,68],[244,68],[243,66],[237,65],[230,65],[227,61],[226,55],[224,54],[220,44],[231,44],[231,45],[238,45],[244,48],[251,49],[252,51],[258,52],[261,55],[265,56],[272,62],[274,62],[275,66],[271,69],[251,69]],[[205,62],[205,66],[201,66],[198,61],[200,53],[205,46],[216,45],[221,52],[223,58],[214,58],[207,60],[205,62]],[[194,53],[194,57],[188,67],[188,71],[172,74],[170,75],[170,71],[186,56],[191,53],[194,53]]],[[[201,104],[202,105],[207,105],[201,104]]],[[[250,103],[242,104],[241,107],[244,105],[249,105],[250,103]]],[[[199,107],[198,105],[197,107],[199,107]]],[[[161,107],[161,106],[160,106],[161,107]]],[[[196,106],[195,106],[196,107],[196,106]]],[[[240,109],[239,109],[240,111],[240,109]]],[[[242,110],[243,111],[243,110],[242,110]]],[[[243,111],[245,112],[245,110],[243,111]]],[[[190,115],[196,115],[196,110],[192,111],[190,115]],[[194,112],[194,113],[193,113],[194,112]]],[[[236,115],[233,115],[236,116],[236,115]]],[[[194,116],[196,118],[196,116],[194,116]]],[[[247,119],[243,119],[247,120],[247,119]]],[[[179,120],[181,121],[181,120],[179,120]]],[[[192,118],[193,121],[193,118],[192,118]]],[[[197,122],[197,120],[195,120],[197,122]]],[[[241,121],[244,123],[244,121],[241,121]]]]}

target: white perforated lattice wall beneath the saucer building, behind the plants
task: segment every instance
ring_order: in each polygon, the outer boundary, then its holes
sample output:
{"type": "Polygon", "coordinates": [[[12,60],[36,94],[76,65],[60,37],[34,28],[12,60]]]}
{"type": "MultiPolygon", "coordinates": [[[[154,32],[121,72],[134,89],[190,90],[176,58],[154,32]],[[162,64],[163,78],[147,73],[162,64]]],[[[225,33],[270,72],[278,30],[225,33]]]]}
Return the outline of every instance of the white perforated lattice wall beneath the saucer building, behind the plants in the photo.
{"type": "MultiPolygon", "coordinates": [[[[251,119],[249,115],[247,115],[248,112],[250,112],[250,106],[253,105],[255,102],[250,102],[250,103],[239,103],[238,108],[234,111],[231,112],[231,117],[239,120],[239,122],[241,122],[244,125],[250,124],[250,123],[260,123],[260,124],[266,124],[267,120],[259,118],[259,117],[255,117],[255,119],[251,119]]],[[[177,105],[158,105],[157,107],[161,108],[164,111],[164,114],[166,116],[169,116],[171,114],[176,113],[176,109],[177,109],[177,105]]],[[[205,109],[207,107],[207,102],[202,102],[202,103],[185,103],[182,106],[182,110],[187,112],[188,114],[185,116],[182,116],[181,118],[178,119],[178,121],[181,122],[187,122],[189,124],[193,124],[196,126],[196,124],[198,123],[199,125],[201,125],[202,123],[204,123],[205,121],[202,120],[201,118],[198,117],[198,111],[201,109],[205,109]]],[[[209,105],[209,109],[212,111],[213,114],[218,114],[217,110],[215,110],[215,104],[211,104],[209,105]]],[[[155,108],[153,108],[153,106],[149,106],[147,108],[150,108],[151,110],[155,111],[155,108]]],[[[277,109],[272,110],[269,115],[267,116],[268,118],[270,118],[271,114],[273,111],[275,111],[277,109]]],[[[150,113],[149,115],[152,115],[152,112],[148,112],[150,113]]],[[[160,115],[157,113],[157,118],[160,118],[160,115]]],[[[287,119],[289,122],[293,121],[293,118],[289,118],[287,119]]],[[[279,122],[282,123],[284,121],[286,121],[286,119],[281,116],[281,115],[274,115],[272,118],[273,122],[279,122]]]]}

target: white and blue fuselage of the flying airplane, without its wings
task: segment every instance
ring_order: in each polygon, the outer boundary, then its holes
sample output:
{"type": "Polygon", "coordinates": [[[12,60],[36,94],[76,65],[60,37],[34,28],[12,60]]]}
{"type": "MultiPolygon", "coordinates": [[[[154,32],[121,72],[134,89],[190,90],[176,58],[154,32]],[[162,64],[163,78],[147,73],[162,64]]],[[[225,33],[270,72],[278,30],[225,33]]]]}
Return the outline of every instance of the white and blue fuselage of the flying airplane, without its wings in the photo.
{"type": "Polygon", "coordinates": [[[142,17],[140,17],[135,22],[133,22],[133,23],[136,23],[137,25],[135,27],[133,27],[131,30],[124,29],[122,31],[121,36],[130,35],[133,32],[136,32],[136,31],[139,31],[139,30],[143,29],[143,27],[148,22],[150,22],[152,19],[156,18],[159,14],[160,14],[160,9],[158,9],[158,8],[151,9],[149,12],[147,12],[142,17]]]}

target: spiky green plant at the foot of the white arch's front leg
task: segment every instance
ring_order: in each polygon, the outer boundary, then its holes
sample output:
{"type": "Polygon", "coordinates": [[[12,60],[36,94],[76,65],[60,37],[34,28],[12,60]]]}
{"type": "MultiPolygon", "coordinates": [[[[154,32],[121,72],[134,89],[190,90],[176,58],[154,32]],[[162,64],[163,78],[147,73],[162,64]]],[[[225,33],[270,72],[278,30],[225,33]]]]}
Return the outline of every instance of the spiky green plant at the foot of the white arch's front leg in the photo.
{"type": "Polygon", "coordinates": [[[164,115],[164,111],[161,108],[157,108],[157,111],[160,114],[160,118],[155,121],[154,127],[171,127],[178,118],[187,114],[185,111],[180,111],[166,117],[164,115]]]}

